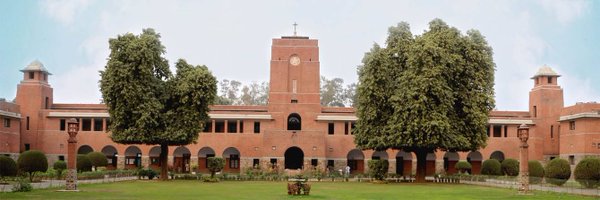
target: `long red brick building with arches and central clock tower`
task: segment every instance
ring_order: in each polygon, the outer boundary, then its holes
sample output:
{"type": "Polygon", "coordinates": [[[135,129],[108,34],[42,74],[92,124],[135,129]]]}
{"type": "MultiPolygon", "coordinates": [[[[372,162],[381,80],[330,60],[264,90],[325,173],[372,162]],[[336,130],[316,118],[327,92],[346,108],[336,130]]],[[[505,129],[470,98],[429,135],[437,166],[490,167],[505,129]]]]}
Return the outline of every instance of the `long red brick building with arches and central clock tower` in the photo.
{"type": "MultiPolygon", "coordinates": [[[[272,165],[287,169],[307,166],[365,172],[366,161],[387,159],[391,173],[410,174],[416,166],[412,153],[401,150],[361,151],[353,142],[357,120],[353,108],[320,105],[318,41],[290,36],[273,39],[270,91],[266,106],[212,106],[211,120],[199,133],[197,144],[169,148],[169,165],[186,172],[197,165],[206,170],[206,158],[224,157],[225,171],[272,165]]],[[[79,153],[103,152],[110,168],[158,166],[158,146],[121,145],[109,139],[109,115],[103,104],[55,103],[51,75],[34,61],[23,72],[14,102],[0,101],[0,154],[18,156],[38,149],[49,162],[65,159],[68,134],[65,120],[80,122],[79,153]]],[[[491,111],[488,145],[475,152],[438,151],[427,156],[428,174],[455,171],[454,163],[467,160],[477,172],[490,158],[518,159],[517,127],[528,124],[531,159],[563,157],[576,164],[583,156],[600,155],[600,104],[564,107],[559,75],[542,67],[532,77],[528,111],[491,111]]],[[[77,94],[73,94],[77,95],[77,94]]]]}

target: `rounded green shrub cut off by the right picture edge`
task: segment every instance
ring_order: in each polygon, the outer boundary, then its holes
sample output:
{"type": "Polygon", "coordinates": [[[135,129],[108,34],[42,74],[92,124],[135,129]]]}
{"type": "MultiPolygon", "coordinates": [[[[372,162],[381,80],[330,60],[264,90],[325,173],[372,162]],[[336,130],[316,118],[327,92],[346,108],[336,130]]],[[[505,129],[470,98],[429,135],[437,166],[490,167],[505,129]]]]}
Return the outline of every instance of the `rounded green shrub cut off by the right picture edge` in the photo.
{"type": "Polygon", "coordinates": [[[600,159],[584,158],[575,167],[575,180],[586,188],[596,188],[600,184],[600,159]]]}

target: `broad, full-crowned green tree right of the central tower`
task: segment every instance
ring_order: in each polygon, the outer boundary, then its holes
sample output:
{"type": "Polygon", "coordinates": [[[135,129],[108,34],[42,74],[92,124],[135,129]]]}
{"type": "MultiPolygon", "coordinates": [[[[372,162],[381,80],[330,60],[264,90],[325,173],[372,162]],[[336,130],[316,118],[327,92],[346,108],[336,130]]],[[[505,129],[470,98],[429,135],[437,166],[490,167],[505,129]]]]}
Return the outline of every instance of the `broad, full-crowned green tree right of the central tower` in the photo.
{"type": "Polygon", "coordinates": [[[492,48],[476,30],[463,35],[440,19],[420,36],[390,27],[359,68],[355,142],[363,149],[403,149],[425,180],[428,153],[485,146],[494,108],[492,48]]]}

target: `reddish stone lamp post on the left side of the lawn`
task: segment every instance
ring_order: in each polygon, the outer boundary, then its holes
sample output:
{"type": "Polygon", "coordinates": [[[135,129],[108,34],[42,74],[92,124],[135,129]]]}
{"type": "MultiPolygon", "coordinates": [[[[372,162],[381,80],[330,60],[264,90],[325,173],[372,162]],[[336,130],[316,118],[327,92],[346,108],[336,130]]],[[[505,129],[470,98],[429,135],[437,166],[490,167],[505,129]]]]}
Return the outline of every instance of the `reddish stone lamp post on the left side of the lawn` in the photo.
{"type": "Polygon", "coordinates": [[[69,133],[69,145],[67,146],[67,177],[66,189],[68,191],[77,191],[77,132],[79,131],[79,122],[75,118],[67,120],[69,133]]]}

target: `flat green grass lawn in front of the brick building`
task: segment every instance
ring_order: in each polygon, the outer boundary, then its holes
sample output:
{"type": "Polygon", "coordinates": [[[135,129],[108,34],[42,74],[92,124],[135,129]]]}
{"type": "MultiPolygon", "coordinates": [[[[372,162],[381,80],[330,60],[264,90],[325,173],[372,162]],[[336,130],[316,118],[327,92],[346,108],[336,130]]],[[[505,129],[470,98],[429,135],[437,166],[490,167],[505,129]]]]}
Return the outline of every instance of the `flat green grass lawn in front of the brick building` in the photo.
{"type": "Polygon", "coordinates": [[[548,192],[522,196],[515,190],[464,184],[317,182],[310,196],[288,196],[285,182],[128,181],[79,188],[81,192],[0,193],[0,199],[593,199],[548,192]]]}

